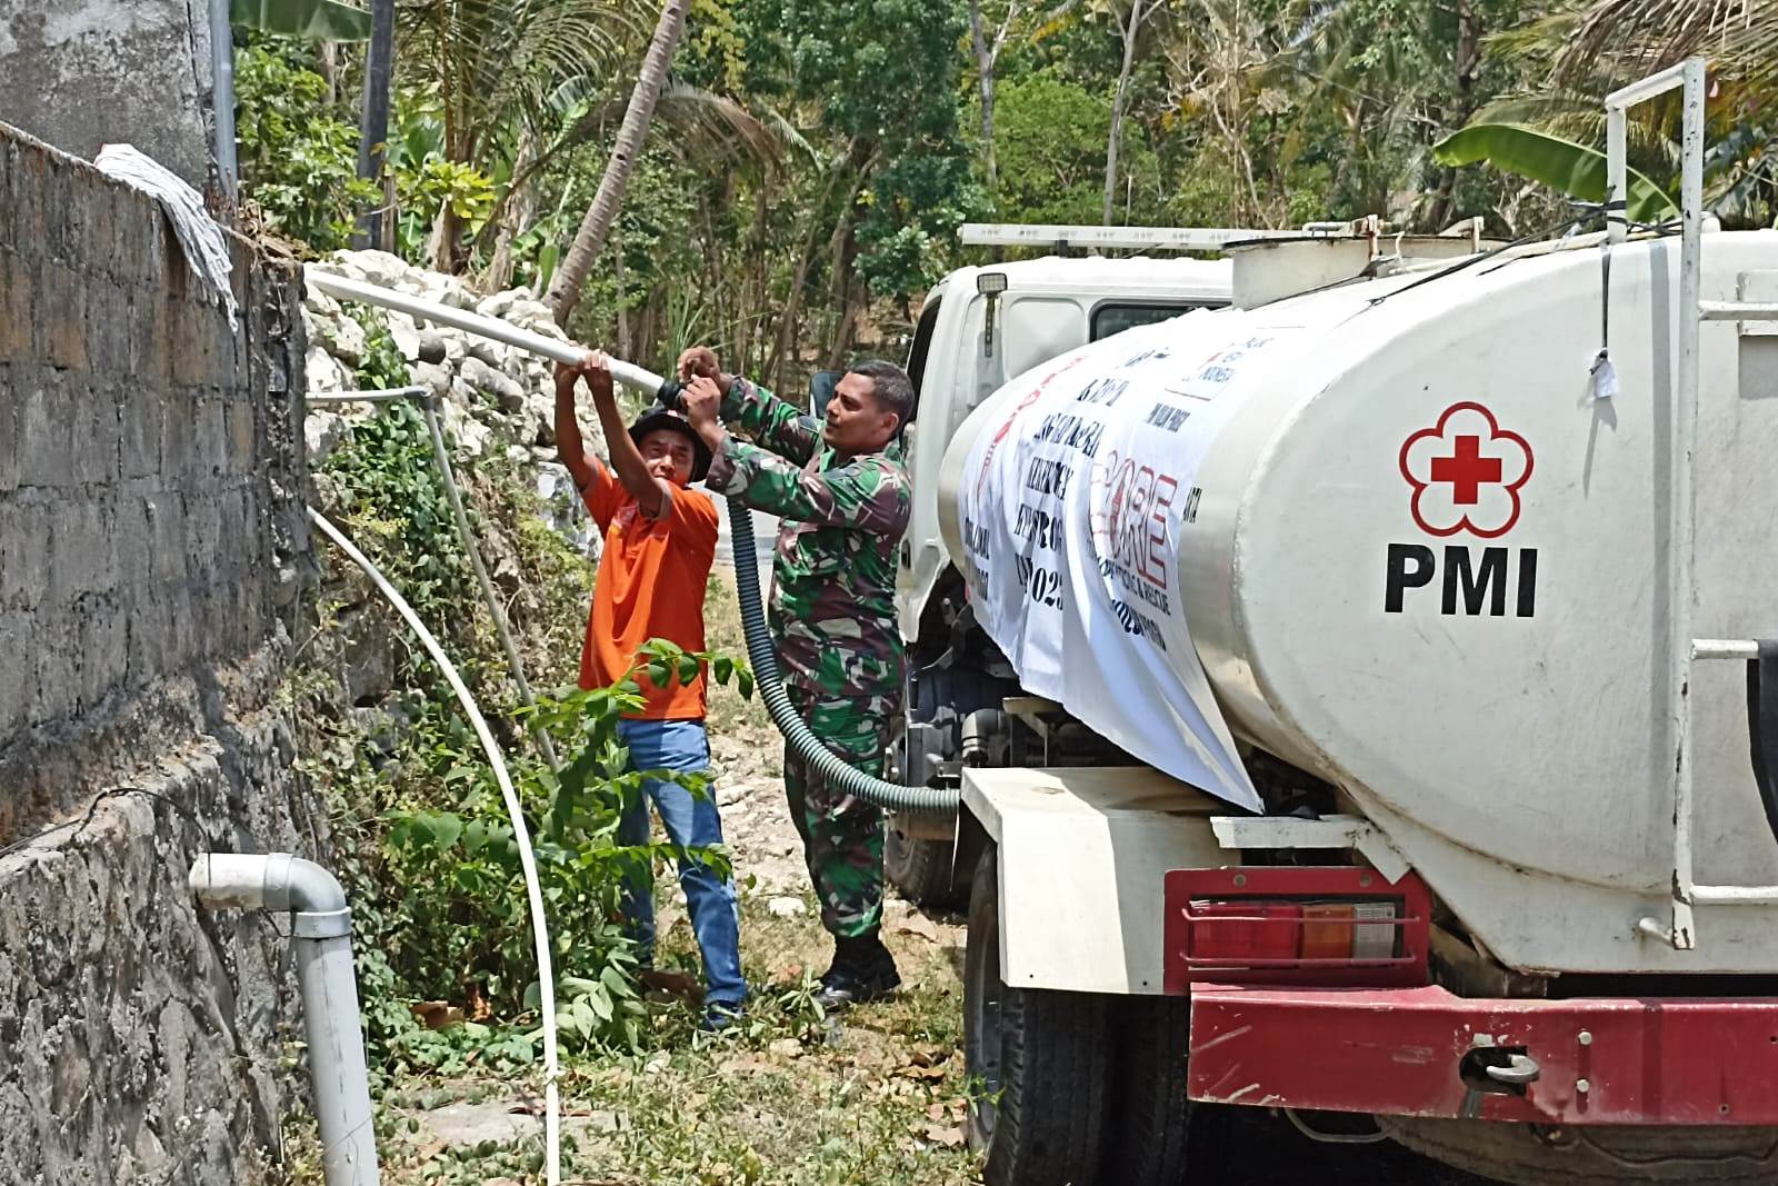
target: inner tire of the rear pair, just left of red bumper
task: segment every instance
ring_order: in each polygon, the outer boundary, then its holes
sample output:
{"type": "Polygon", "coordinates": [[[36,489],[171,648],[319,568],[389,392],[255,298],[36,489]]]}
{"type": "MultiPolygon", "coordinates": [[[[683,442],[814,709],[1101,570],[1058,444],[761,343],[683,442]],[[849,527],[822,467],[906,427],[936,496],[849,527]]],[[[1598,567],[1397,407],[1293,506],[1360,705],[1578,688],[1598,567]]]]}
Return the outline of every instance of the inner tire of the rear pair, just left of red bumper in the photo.
{"type": "Polygon", "coordinates": [[[1179,996],[1131,996],[1111,1001],[1117,1070],[1101,1182],[1182,1186],[1191,1101],[1186,1053],[1191,1005],[1179,996]]]}

